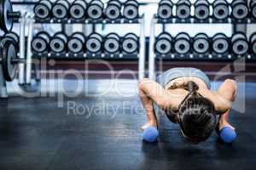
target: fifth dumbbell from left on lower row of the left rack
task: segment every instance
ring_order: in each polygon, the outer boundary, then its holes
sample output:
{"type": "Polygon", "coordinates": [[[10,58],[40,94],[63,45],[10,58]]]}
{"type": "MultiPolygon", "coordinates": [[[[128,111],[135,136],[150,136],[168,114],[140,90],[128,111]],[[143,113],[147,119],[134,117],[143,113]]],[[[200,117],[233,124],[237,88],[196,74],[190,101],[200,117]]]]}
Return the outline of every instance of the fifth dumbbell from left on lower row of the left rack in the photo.
{"type": "Polygon", "coordinates": [[[104,52],[116,54],[120,51],[120,37],[116,33],[109,33],[104,39],[104,52]]]}

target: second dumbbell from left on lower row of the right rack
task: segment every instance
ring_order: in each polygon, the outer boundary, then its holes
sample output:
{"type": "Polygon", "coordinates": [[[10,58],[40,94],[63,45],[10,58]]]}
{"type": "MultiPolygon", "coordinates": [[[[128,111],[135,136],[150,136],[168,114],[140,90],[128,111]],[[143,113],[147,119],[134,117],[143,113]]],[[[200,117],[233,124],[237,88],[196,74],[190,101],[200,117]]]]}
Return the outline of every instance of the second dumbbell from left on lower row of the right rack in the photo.
{"type": "Polygon", "coordinates": [[[188,33],[181,32],[177,34],[174,40],[174,50],[177,54],[189,54],[190,52],[190,37],[188,33]]]}

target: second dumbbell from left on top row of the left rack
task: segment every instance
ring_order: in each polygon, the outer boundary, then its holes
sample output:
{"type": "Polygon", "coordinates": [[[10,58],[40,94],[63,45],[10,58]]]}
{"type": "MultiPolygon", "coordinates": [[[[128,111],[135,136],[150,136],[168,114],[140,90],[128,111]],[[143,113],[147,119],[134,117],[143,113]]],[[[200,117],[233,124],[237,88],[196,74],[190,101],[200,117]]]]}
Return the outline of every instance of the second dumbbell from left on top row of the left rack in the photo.
{"type": "Polygon", "coordinates": [[[70,8],[70,3],[68,3],[67,0],[56,1],[52,8],[53,17],[59,20],[68,18],[69,8],[70,8]]]}

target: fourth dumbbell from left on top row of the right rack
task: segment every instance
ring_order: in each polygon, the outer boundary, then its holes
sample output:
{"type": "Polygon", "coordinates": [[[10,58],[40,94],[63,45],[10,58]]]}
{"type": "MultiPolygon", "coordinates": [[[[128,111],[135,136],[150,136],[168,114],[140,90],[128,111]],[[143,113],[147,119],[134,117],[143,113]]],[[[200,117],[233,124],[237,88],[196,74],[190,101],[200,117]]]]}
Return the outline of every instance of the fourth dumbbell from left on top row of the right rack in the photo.
{"type": "Polygon", "coordinates": [[[215,20],[226,20],[230,14],[229,3],[226,0],[215,0],[212,3],[212,16],[215,20]]]}

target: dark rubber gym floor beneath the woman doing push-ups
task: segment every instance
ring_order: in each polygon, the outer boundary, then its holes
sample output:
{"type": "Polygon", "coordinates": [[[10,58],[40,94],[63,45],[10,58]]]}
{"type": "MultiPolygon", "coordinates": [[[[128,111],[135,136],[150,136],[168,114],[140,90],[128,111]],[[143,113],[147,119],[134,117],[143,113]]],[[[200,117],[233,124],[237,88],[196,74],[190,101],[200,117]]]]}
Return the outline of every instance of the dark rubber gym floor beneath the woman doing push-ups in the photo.
{"type": "Polygon", "coordinates": [[[234,144],[222,144],[216,133],[207,142],[189,144],[171,123],[158,143],[146,144],[140,136],[146,116],[137,111],[137,96],[77,97],[65,99],[63,108],[55,98],[1,99],[0,169],[254,170],[255,88],[246,85],[246,113],[232,111],[234,144]],[[76,113],[67,112],[69,100],[76,102],[76,113]]]}

